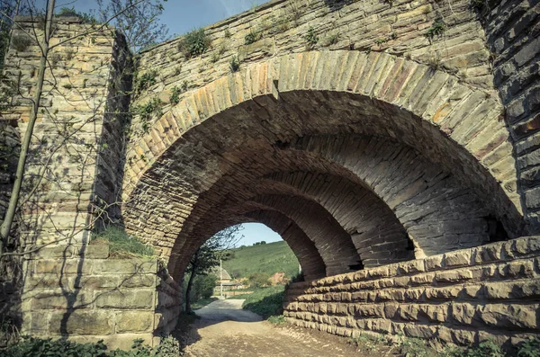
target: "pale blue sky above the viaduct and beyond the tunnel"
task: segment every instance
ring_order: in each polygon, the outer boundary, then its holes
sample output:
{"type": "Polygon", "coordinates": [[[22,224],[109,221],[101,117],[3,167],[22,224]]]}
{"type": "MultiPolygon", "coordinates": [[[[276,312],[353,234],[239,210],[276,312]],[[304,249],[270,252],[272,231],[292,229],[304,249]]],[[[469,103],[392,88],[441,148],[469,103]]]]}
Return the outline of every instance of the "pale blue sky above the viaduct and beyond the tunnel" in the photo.
{"type": "MultiPolygon", "coordinates": [[[[161,22],[166,24],[171,36],[182,35],[264,3],[266,0],[168,0],[164,3],[161,22]]],[[[97,8],[94,0],[57,0],[57,8],[65,6],[75,6],[77,11],[85,13],[97,8]]],[[[253,245],[262,240],[266,243],[282,240],[275,231],[263,224],[246,223],[242,226],[244,229],[239,234],[243,238],[238,241],[238,246],[253,245]]]]}

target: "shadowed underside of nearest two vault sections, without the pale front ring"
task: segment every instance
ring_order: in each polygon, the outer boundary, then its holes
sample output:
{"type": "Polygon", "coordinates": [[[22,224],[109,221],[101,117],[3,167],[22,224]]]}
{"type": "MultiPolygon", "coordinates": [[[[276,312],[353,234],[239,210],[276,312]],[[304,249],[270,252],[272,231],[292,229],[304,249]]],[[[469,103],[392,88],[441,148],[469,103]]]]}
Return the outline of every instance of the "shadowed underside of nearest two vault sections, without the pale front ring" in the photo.
{"type": "MultiPolygon", "coordinates": [[[[284,172],[332,174],[358,191],[369,189],[401,223],[396,232],[406,231],[425,254],[481,245],[490,238],[494,218],[510,235],[521,224],[491,175],[410,112],[355,94],[301,91],[282,94],[279,101],[240,103],[188,130],[141,177],[124,212],[126,227],[165,247],[165,254],[172,253],[172,271],[181,273],[184,263],[176,263],[207,238],[200,227],[226,220],[216,211],[229,214],[232,203],[253,197],[249,186],[284,172]],[[147,215],[139,210],[142,202],[151,208],[147,215]]],[[[367,246],[357,233],[377,223],[358,223],[354,233],[345,223],[353,208],[329,214],[350,232],[361,255],[367,246]]]]}

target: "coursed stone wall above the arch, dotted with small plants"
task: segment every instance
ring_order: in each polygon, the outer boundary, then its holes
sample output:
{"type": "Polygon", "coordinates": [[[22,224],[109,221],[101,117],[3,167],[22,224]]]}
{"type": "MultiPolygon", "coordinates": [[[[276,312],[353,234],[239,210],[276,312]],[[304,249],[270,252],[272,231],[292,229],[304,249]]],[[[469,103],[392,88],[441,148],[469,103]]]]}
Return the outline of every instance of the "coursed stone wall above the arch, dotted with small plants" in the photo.
{"type": "MultiPolygon", "coordinates": [[[[166,112],[171,107],[175,87],[185,92],[180,93],[182,101],[193,89],[229,75],[232,58],[238,58],[243,68],[250,63],[310,49],[384,52],[437,67],[467,85],[491,89],[490,53],[482,25],[469,3],[469,0],[269,1],[204,28],[210,49],[201,57],[184,56],[184,37],[142,52],[138,58],[139,77],[152,71],[157,77],[155,84],[142,91],[133,105],[158,97],[164,102],[163,112],[166,112]],[[437,19],[446,23],[446,31],[430,40],[426,33],[437,19]],[[306,40],[310,29],[318,38],[312,46],[306,40]],[[255,35],[255,41],[246,44],[250,33],[255,35]]],[[[136,118],[134,122],[133,130],[140,130],[139,120],[136,118]]],[[[136,147],[137,140],[132,144],[136,147]]]]}

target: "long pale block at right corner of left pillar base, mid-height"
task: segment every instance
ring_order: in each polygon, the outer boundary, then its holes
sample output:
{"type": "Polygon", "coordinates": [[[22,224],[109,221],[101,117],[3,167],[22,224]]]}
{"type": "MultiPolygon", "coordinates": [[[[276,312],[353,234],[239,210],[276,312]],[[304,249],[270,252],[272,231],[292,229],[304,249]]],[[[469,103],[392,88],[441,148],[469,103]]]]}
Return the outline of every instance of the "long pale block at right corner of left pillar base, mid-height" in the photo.
{"type": "Polygon", "coordinates": [[[154,309],[154,295],[154,290],[122,289],[96,291],[94,293],[94,300],[97,308],[154,309]]]}

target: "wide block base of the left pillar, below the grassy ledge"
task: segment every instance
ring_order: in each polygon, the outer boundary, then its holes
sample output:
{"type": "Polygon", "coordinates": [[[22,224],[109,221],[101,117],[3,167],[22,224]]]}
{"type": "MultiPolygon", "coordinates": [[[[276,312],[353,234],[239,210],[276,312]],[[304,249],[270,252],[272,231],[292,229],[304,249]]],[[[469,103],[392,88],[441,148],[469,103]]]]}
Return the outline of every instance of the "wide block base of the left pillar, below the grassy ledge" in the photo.
{"type": "Polygon", "coordinates": [[[137,338],[157,344],[177,317],[170,306],[179,306],[178,287],[157,258],[117,259],[108,245],[58,245],[25,264],[23,334],[129,349],[137,338]]]}

